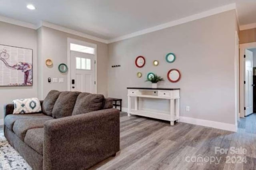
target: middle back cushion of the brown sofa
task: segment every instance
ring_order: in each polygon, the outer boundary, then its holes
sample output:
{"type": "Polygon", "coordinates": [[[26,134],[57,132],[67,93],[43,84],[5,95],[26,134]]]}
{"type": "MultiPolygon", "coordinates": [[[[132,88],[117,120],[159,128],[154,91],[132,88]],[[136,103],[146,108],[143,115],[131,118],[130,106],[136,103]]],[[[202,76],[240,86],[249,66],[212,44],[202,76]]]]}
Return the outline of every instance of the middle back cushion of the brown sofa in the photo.
{"type": "Polygon", "coordinates": [[[72,115],[76,99],[81,92],[78,91],[64,91],[61,92],[58,99],[56,100],[53,110],[52,117],[62,118],[72,115]]]}

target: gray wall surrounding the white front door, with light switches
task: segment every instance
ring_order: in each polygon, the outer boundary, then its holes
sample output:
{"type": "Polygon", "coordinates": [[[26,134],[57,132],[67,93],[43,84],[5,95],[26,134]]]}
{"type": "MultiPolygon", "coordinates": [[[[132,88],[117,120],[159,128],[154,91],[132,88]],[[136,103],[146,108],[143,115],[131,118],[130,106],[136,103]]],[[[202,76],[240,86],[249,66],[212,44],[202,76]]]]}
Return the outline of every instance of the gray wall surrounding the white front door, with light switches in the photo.
{"type": "MultiPolygon", "coordinates": [[[[67,38],[73,38],[97,44],[97,60],[98,60],[98,93],[107,96],[107,79],[108,79],[108,45],[96,42],[79,36],[74,36],[65,32],[54,30],[48,27],[41,27],[38,30],[38,49],[39,50],[39,97],[44,99],[48,92],[52,89],[59,91],[67,91],[67,73],[60,73],[58,65],[67,63],[67,38]],[[49,68],[45,65],[47,58],[52,59],[53,67],[49,68]],[[48,77],[64,78],[64,83],[48,83],[48,77]]],[[[70,68],[70,65],[68,65],[70,68]]]]}

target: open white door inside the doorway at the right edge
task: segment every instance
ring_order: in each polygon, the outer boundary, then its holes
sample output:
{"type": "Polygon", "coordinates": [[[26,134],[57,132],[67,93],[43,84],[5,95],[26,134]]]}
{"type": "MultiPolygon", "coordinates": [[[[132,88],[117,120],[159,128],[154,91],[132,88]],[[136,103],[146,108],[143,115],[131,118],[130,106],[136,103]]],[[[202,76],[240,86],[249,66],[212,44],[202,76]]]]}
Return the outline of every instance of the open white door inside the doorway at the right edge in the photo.
{"type": "Polygon", "coordinates": [[[253,82],[252,82],[252,51],[245,50],[245,84],[244,84],[244,107],[245,116],[253,112],[253,82]]]}

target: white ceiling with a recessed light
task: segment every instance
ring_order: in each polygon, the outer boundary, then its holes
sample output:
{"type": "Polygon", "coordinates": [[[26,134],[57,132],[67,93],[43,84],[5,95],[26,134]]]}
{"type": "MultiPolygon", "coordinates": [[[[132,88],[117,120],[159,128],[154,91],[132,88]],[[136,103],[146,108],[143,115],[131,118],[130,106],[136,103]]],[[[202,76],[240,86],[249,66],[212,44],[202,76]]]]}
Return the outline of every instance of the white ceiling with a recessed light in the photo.
{"type": "Polygon", "coordinates": [[[110,40],[234,2],[240,25],[256,22],[256,1],[240,1],[0,0],[0,16],[35,25],[46,21],[110,40]],[[27,4],[34,4],[36,10],[28,10],[27,4]]]}

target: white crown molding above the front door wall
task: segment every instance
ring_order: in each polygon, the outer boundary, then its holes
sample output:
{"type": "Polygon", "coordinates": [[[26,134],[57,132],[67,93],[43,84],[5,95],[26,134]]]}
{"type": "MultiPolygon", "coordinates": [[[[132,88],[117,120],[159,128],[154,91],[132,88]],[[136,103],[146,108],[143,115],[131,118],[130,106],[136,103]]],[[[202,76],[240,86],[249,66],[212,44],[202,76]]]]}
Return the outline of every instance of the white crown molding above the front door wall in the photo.
{"type": "Polygon", "coordinates": [[[45,26],[45,27],[48,27],[48,28],[52,28],[54,30],[66,32],[66,33],[69,33],[69,34],[73,34],[73,35],[76,35],[76,36],[80,36],[80,37],[83,37],[83,38],[88,38],[90,40],[94,40],[94,41],[97,41],[97,42],[108,43],[108,40],[105,40],[105,39],[102,39],[102,38],[98,38],[98,37],[95,37],[95,36],[91,36],[91,35],[88,35],[88,34],[84,34],[82,32],[78,32],[76,30],[71,30],[69,28],[65,28],[65,27],[62,27],[62,26],[58,26],[58,25],[52,24],[50,22],[42,21],[42,23],[39,26],[39,28],[42,27],[42,26],[45,26]]]}

